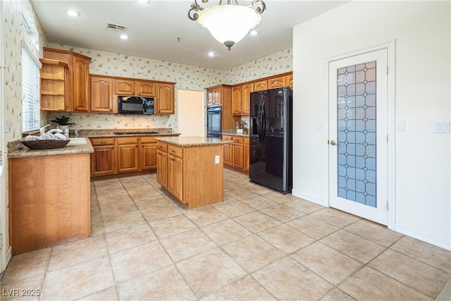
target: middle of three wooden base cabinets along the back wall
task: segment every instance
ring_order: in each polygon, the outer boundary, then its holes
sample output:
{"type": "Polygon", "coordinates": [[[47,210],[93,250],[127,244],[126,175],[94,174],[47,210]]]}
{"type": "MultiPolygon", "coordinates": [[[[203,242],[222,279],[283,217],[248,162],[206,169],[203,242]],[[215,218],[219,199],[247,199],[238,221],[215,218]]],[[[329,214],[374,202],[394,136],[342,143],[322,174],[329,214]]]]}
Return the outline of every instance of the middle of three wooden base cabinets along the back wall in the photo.
{"type": "Polygon", "coordinates": [[[138,170],[138,138],[119,137],[118,149],[118,173],[138,170]]]}

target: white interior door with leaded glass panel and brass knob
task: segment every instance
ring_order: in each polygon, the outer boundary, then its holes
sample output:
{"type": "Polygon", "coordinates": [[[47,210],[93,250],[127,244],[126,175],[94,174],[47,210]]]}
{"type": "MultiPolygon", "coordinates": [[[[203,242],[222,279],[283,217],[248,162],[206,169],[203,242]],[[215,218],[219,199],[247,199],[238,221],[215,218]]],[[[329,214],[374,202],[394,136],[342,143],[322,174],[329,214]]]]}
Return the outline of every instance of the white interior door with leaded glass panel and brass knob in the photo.
{"type": "Polygon", "coordinates": [[[387,49],[329,62],[330,207],[388,222],[387,49]]]}

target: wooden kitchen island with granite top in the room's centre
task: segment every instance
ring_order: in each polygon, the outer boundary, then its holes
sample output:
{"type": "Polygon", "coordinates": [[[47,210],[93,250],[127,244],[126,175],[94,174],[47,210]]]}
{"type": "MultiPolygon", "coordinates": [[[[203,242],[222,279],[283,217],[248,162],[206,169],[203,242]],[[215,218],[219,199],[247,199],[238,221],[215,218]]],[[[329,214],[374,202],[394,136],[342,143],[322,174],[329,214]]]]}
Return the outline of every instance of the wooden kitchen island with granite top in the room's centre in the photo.
{"type": "Polygon", "coordinates": [[[223,202],[223,145],[206,137],[156,138],[156,180],[188,209],[223,202]]]}

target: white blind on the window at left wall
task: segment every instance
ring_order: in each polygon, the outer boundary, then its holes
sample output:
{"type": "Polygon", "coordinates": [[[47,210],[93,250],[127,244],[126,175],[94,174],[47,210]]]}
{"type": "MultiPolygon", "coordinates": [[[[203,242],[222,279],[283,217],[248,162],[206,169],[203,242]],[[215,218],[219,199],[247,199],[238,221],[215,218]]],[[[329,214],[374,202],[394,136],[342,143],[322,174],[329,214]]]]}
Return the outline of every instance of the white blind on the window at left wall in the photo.
{"type": "Polygon", "coordinates": [[[40,127],[39,66],[32,54],[22,47],[22,131],[40,127]]]}

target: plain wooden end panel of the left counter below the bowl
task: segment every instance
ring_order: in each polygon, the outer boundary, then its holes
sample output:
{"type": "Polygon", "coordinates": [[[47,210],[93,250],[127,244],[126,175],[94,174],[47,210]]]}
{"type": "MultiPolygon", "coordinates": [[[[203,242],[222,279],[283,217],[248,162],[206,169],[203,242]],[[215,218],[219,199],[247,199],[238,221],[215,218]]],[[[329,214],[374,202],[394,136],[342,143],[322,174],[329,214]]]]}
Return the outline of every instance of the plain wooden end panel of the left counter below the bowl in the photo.
{"type": "MultiPolygon", "coordinates": [[[[39,149],[37,154],[45,152],[39,149]]],[[[13,255],[89,237],[89,154],[8,160],[13,255]]]]}

